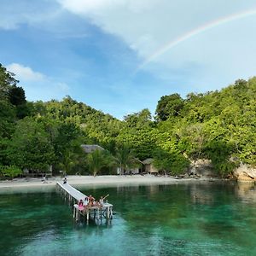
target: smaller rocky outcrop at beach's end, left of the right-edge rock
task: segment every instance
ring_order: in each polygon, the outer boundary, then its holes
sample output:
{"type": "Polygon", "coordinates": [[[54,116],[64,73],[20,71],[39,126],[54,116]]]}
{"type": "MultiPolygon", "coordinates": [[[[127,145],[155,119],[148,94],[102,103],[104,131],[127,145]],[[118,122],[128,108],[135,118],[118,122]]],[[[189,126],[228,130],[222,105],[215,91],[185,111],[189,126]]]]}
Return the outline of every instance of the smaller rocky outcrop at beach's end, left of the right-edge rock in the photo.
{"type": "Polygon", "coordinates": [[[199,159],[191,161],[189,175],[201,177],[215,177],[211,160],[199,159]]]}

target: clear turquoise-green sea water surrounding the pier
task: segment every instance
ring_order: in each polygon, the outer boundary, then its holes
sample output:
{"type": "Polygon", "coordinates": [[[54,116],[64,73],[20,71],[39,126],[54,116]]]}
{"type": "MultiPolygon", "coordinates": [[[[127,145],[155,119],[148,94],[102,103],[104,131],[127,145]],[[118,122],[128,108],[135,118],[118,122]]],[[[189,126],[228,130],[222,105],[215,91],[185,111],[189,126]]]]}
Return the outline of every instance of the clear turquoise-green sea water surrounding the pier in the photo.
{"type": "Polygon", "coordinates": [[[55,191],[0,195],[0,255],[256,255],[251,184],[79,189],[109,194],[113,219],[75,223],[55,191]]]}

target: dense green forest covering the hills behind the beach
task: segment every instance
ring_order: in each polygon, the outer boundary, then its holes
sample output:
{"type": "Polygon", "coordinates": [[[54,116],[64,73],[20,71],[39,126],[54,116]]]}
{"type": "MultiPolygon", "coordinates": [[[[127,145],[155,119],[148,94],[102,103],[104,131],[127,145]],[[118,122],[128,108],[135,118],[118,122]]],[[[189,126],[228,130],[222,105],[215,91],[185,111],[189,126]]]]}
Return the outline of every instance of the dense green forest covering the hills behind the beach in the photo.
{"type": "Polygon", "coordinates": [[[212,161],[230,177],[241,163],[256,166],[256,77],[222,90],[162,96],[155,113],[143,109],[123,120],[70,96],[28,102],[14,73],[0,64],[0,172],[115,174],[148,158],[171,175],[192,160],[212,161]],[[105,150],[85,154],[82,144],[105,150]]]}

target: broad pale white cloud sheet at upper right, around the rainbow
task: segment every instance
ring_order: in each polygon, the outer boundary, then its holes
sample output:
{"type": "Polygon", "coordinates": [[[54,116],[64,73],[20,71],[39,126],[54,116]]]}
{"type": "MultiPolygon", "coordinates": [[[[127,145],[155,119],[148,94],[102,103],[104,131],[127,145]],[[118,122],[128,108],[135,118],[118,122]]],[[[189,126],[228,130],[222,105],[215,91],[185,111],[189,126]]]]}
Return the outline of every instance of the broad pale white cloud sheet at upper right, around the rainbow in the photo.
{"type": "MultiPolygon", "coordinates": [[[[198,27],[256,7],[254,0],[57,1],[64,9],[122,38],[137,52],[142,63],[156,50],[198,27]]],[[[190,87],[190,91],[224,86],[238,78],[247,79],[255,74],[256,44],[249,45],[256,41],[255,23],[256,15],[252,15],[220,24],[166,50],[143,69],[159,77],[179,77],[179,83],[186,76],[185,83],[196,86],[190,87]]]]}

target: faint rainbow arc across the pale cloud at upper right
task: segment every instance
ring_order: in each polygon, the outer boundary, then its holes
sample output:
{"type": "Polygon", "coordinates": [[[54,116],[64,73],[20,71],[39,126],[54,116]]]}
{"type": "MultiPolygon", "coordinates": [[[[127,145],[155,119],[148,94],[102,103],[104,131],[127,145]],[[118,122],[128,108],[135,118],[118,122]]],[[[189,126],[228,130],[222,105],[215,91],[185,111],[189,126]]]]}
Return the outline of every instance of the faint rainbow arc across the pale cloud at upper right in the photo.
{"type": "Polygon", "coordinates": [[[183,34],[181,37],[176,38],[173,41],[160,47],[160,49],[157,49],[152,55],[149,55],[149,57],[145,61],[143,61],[143,63],[141,65],[139,65],[137,67],[135,73],[137,73],[140,69],[142,69],[143,67],[148,65],[149,62],[154,61],[157,57],[164,54],[167,50],[170,50],[173,47],[177,46],[177,44],[181,44],[184,41],[189,40],[190,38],[193,38],[203,32],[207,32],[208,30],[215,28],[216,26],[222,26],[231,21],[240,20],[240,19],[246,18],[248,16],[252,16],[252,15],[256,15],[256,9],[250,9],[247,11],[243,11],[241,13],[236,13],[233,15],[225,16],[218,20],[212,20],[211,22],[208,22],[207,24],[204,24],[203,26],[198,26],[194,30],[183,34]]]}

